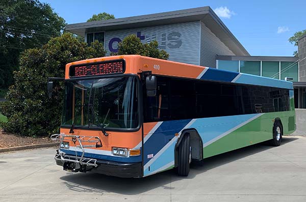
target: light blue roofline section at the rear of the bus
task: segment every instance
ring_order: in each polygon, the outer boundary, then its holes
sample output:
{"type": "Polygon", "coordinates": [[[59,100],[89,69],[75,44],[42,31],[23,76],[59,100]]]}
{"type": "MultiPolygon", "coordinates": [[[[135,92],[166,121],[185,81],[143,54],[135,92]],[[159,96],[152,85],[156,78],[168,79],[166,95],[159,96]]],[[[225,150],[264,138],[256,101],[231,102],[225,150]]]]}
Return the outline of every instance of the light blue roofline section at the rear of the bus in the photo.
{"type": "Polygon", "coordinates": [[[244,84],[252,84],[252,85],[263,85],[263,86],[293,89],[293,84],[292,82],[289,82],[289,81],[283,81],[283,80],[261,77],[261,76],[256,76],[256,75],[243,74],[243,73],[240,73],[240,74],[241,76],[236,81],[234,81],[235,83],[244,83],[244,84]]]}

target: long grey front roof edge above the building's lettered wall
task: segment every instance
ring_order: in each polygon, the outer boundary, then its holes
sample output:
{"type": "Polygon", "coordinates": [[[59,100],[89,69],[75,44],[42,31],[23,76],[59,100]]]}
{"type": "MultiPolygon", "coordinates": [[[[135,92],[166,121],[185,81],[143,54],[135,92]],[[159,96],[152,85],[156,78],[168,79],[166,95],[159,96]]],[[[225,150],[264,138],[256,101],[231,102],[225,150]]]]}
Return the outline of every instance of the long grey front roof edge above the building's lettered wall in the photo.
{"type": "Polygon", "coordinates": [[[169,16],[178,17],[181,15],[186,15],[190,13],[199,13],[199,14],[207,14],[210,10],[209,6],[205,7],[198,7],[198,8],[191,8],[191,9],[183,9],[177,11],[168,11],[162,13],[154,13],[154,14],[146,14],[146,15],[138,15],[132,17],[121,17],[116,19],[108,19],[108,20],[98,20],[98,21],[90,21],[85,23],[75,23],[75,24],[68,24],[66,25],[66,30],[73,30],[74,28],[82,28],[82,27],[90,27],[90,26],[112,26],[115,24],[120,24],[125,21],[136,21],[136,20],[155,20],[155,18],[168,18],[169,16]]]}

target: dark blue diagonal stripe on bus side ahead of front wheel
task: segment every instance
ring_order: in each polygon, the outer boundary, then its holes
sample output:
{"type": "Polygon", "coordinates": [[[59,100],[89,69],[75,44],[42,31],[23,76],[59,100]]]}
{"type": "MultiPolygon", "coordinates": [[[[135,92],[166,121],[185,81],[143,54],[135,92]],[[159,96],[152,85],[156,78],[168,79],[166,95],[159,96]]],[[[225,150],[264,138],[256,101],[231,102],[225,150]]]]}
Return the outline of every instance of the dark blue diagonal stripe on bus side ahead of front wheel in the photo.
{"type": "Polygon", "coordinates": [[[180,132],[190,121],[191,119],[164,121],[144,143],[144,165],[150,160],[147,158],[148,154],[157,154],[175,136],[175,133],[180,132]]]}

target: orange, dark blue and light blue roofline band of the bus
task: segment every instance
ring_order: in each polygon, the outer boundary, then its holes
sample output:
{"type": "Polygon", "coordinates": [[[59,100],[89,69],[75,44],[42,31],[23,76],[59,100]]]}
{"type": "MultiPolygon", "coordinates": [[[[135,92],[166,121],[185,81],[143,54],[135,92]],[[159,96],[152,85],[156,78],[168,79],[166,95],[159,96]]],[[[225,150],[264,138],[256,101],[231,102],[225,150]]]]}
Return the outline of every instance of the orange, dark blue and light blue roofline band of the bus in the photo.
{"type": "Polygon", "coordinates": [[[137,74],[141,73],[142,71],[151,71],[152,74],[155,75],[293,89],[293,83],[289,81],[226,71],[226,70],[218,70],[206,66],[185,64],[181,62],[150,58],[140,55],[109,56],[103,58],[93,58],[88,60],[71,62],[66,65],[65,78],[66,79],[69,78],[70,65],[90,64],[93,62],[110,61],[118,59],[124,59],[126,62],[126,68],[124,74],[137,74]]]}

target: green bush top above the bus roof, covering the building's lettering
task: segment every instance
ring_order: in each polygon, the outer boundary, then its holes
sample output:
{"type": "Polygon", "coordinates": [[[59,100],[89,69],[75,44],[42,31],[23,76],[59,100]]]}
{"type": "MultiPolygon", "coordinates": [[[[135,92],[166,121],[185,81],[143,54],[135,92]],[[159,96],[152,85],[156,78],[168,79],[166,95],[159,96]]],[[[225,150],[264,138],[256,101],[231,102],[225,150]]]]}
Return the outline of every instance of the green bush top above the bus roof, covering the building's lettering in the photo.
{"type": "Polygon", "coordinates": [[[156,40],[143,44],[136,35],[126,36],[118,43],[118,53],[112,55],[142,55],[147,57],[168,59],[169,54],[165,50],[158,49],[156,40]]]}

